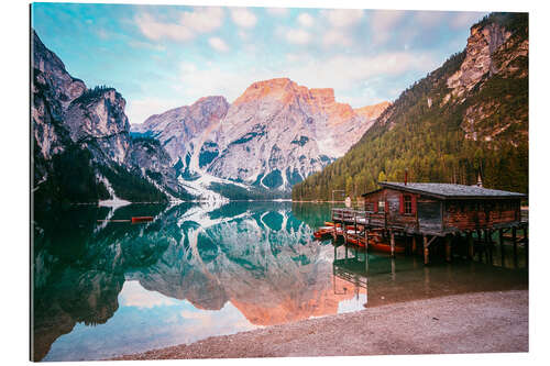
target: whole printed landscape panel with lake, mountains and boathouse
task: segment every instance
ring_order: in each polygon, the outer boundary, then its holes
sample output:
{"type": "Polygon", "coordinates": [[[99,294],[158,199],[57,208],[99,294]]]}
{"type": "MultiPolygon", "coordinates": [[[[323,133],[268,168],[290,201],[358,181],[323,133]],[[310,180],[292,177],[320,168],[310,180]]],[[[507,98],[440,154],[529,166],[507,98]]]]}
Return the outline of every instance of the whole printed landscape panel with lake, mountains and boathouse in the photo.
{"type": "Polygon", "coordinates": [[[32,361],[528,352],[527,13],[32,3],[30,46],[32,361]]]}

